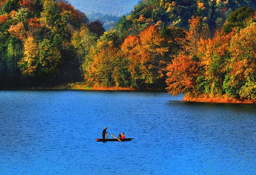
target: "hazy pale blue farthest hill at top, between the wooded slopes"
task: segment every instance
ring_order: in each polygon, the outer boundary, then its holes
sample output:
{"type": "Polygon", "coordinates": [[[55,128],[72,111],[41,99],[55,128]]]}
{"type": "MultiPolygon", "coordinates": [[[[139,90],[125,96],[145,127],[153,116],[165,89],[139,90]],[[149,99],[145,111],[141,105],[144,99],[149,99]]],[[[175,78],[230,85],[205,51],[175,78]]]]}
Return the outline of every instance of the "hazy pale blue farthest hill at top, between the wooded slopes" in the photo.
{"type": "Polygon", "coordinates": [[[68,2],[87,15],[99,12],[103,15],[122,16],[131,12],[139,0],[68,0],[68,2]]]}

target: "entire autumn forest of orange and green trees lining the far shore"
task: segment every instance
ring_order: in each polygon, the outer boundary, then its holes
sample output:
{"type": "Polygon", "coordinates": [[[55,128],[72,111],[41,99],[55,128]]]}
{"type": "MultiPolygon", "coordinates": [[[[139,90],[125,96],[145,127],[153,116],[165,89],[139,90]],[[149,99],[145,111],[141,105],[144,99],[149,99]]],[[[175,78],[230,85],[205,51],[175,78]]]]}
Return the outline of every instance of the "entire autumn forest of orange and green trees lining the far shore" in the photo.
{"type": "Polygon", "coordinates": [[[143,0],[105,31],[68,1],[0,1],[0,88],[166,89],[256,101],[256,2],[143,0]]]}

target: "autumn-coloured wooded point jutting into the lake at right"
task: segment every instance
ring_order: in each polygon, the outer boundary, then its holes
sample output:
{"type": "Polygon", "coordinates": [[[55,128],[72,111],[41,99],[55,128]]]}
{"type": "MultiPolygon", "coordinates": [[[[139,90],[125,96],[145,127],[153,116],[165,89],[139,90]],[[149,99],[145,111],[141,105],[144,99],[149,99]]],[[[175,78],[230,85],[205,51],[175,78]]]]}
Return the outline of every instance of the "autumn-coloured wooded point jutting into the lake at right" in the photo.
{"type": "Polygon", "coordinates": [[[198,30],[199,17],[190,20],[188,42],[167,66],[167,90],[199,96],[227,95],[239,100],[256,101],[256,14],[239,8],[227,18],[222,31],[213,38],[198,30]]]}

